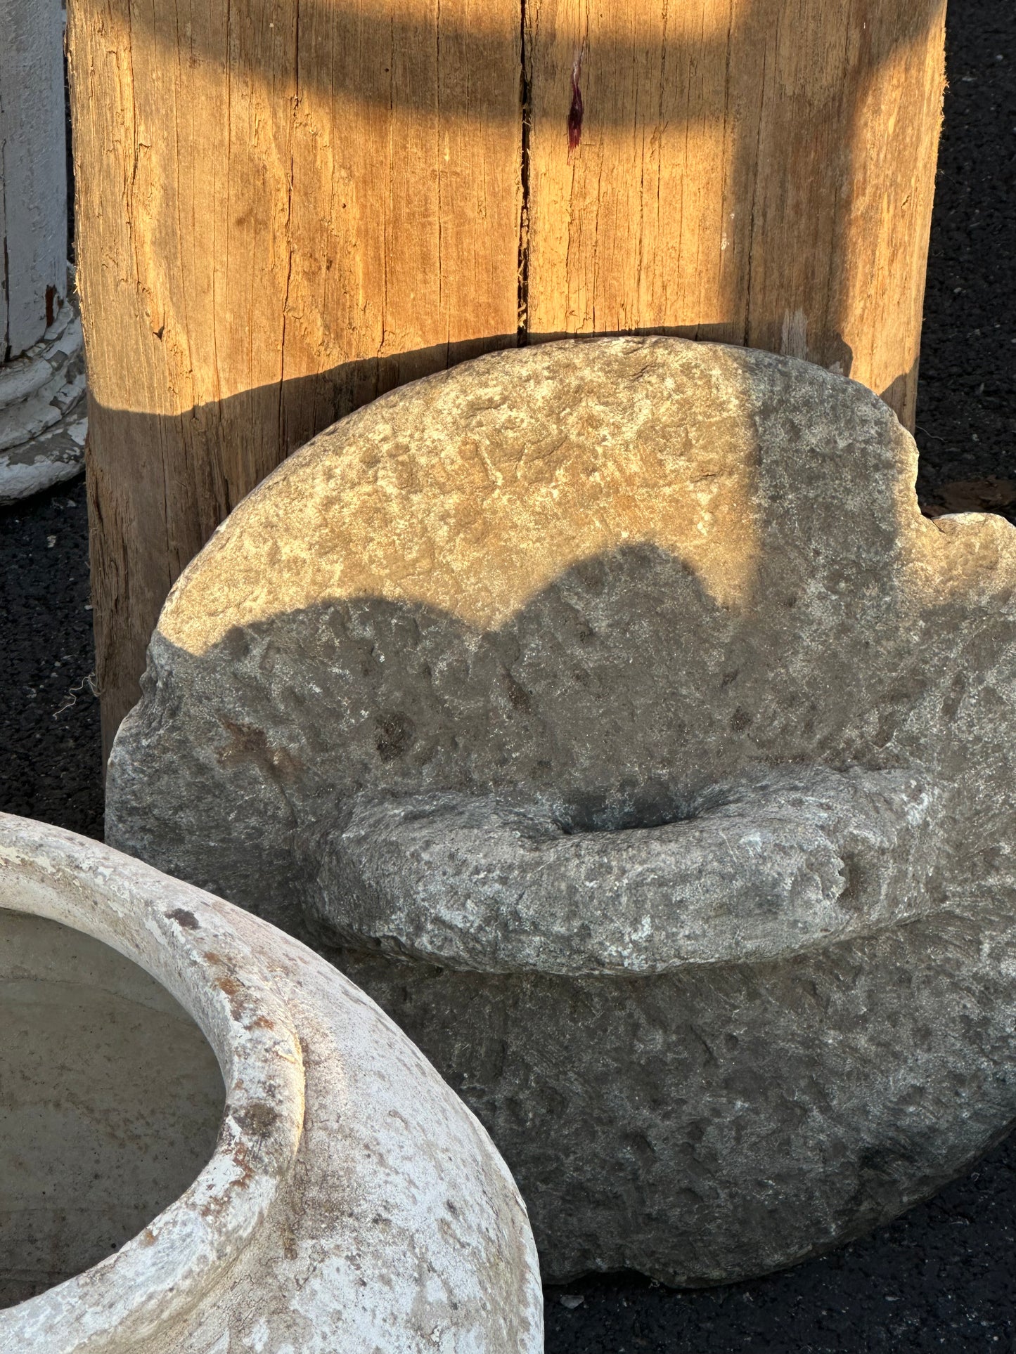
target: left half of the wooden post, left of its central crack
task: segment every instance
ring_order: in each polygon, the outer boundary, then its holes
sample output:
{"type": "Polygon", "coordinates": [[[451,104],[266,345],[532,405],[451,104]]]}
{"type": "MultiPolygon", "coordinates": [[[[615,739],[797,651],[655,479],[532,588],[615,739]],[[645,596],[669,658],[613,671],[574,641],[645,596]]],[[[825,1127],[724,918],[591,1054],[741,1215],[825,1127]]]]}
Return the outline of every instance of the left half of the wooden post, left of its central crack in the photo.
{"type": "Polygon", "coordinates": [[[294,447],[515,343],[517,0],[72,0],[103,726],[294,447]]]}

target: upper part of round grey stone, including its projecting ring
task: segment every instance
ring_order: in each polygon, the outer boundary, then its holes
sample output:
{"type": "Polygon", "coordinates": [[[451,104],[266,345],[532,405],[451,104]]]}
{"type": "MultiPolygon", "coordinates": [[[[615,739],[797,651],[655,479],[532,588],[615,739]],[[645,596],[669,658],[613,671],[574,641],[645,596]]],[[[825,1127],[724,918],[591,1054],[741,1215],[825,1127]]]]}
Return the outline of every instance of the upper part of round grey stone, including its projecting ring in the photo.
{"type": "Polygon", "coordinates": [[[924,915],[1012,833],[1016,538],[925,520],[916,459],[870,390],[718,344],[400,387],[176,582],[107,831],[461,969],[763,961],[924,915]]]}

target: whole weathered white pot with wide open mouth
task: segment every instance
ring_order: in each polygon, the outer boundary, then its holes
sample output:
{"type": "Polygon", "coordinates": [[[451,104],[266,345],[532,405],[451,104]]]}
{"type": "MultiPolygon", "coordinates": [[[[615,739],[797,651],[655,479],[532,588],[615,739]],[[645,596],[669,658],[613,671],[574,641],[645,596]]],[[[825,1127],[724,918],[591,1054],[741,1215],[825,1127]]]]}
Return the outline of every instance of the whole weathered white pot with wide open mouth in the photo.
{"type": "Polygon", "coordinates": [[[4,1351],[543,1349],[489,1137],[275,927],[0,815],[0,1013],[4,1351]]]}

